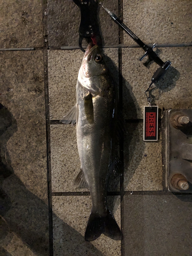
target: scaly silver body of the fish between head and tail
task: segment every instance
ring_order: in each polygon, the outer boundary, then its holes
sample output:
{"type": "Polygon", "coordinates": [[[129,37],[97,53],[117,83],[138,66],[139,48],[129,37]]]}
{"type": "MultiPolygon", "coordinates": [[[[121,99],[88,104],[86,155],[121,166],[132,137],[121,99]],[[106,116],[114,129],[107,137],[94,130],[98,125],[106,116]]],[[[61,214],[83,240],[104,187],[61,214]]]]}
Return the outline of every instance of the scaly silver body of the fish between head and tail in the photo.
{"type": "Polygon", "coordinates": [[[99,216],[106,215],[108,176],[115,160],[116,95],[113,81],[107,86],[109,92],[105,96],[92,96],[93,121],[90,121],[84,103],[84,97],[89,92],[77,82],[77,146],[81,168],[91,193],[92,212],[97,212],[99,216]]]}

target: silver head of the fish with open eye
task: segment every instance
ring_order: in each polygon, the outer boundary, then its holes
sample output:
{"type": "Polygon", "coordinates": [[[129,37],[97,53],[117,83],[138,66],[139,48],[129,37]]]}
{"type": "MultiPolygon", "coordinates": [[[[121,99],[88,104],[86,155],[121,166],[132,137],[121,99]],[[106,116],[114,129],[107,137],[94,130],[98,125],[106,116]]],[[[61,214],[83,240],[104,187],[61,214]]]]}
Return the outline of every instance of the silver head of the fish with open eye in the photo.
{"type": "Polygon", "coordinates": [[[97,45],[90,43],[84,54],[79,70],[78,80],[89,92],[96,95],[103,95],[107,91],[106,77],[108,68],[104,62],[103,54],[97,45]]]}

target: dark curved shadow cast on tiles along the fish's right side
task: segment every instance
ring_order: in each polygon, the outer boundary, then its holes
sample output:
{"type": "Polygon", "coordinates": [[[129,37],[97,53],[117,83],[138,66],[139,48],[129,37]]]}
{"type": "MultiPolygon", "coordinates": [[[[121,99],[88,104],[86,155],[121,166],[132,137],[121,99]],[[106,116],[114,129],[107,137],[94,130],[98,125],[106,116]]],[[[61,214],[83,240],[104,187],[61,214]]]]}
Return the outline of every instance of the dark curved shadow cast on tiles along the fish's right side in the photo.
{"type": "MultiPolygon", "coordinates": [[[[139,108],[139,105],[137,104],[137,100],[134,94],[132,93],[131,84],[128,81],[126,81],[121,74],[119,74],[118,67],[115,65],[112,59],[104,55],[104,60],[116,84],[119,84],[119,82],[121,83],[122,89],[120,88],[120,90],[122,90],[123,95],[122,95],[122,99],[121,97],[120,99],[123,102],[119,102],[119,103],[120,105],[123,105],[123,115],[126,115],[126,113],[131,110],[131,117],[129,122],[124,123],[126,132],[124,132],[124,135],[122,138],[124,159],[123,160],[121,159],[121,161],[124,161],[124,176],[126,176],[126,179],[124,179],[123,185],[124,185],[124,188],[126,188],[127,184],[133,177],[142,159],[142,155],[144,151],[144,143],[141,144],[141,138],[139,137],[139,134],[137,132],[138,125],[139,125],[139,122],[137,122],[137,116],[141,112],[141,110],[139,108]],[[138,146],[139,146],[139,154],[136,154],[138,146]],[[135,159],[135,164],[134,166],[132,166],[133,168],[129,168],[129,163],[135,155],[137,155],[137,158],[135,159]],[[127,174],[127,172],[129,172],[129,174],[127,174]]],[[[119,87],[118,87],[118,91],[119,91],[119,87]]],[[[119,175],[121,176],[122,173],[123,173],[122,169],[118,174],[112,173],[109,180],[109,189],[108,189],[109,191],[118,191],[119,175]]],[[[109,209],[112,210],[113,212],[115,212],[117,209],[117,204],[116,204],[117,200],[118,198],[114,197],[114,202],[111,201],[109,204],[109,209]]]]}

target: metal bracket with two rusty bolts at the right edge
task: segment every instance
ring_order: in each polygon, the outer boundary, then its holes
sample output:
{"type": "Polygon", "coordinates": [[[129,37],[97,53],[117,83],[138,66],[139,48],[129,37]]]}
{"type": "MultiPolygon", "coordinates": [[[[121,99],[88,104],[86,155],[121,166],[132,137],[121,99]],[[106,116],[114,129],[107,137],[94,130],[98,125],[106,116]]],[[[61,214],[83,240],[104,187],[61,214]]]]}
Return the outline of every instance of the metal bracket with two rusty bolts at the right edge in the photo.
{"type": "Polygon", "coordinates": [[[192,109],[168,110],[164,129],[166,187],[192,192],[192,109]]]}

